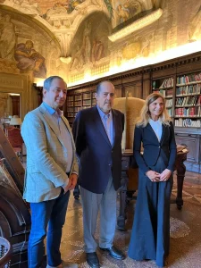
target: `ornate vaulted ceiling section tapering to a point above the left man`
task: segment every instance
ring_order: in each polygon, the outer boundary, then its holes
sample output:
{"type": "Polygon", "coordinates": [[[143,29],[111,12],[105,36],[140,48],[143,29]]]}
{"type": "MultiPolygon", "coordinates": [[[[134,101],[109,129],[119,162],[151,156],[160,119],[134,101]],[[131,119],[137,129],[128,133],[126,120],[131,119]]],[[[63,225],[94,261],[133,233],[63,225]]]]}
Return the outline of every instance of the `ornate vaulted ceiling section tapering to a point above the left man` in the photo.
{"type": "Polygon", "coordinates": [[[105,14],[115,29],[138,13],[154,9],[153,0],[0,0],[0,4],[25,13],[50,29],[60,42],[62,58],[71,56],[71,42],[90,14],[105,14]]]}

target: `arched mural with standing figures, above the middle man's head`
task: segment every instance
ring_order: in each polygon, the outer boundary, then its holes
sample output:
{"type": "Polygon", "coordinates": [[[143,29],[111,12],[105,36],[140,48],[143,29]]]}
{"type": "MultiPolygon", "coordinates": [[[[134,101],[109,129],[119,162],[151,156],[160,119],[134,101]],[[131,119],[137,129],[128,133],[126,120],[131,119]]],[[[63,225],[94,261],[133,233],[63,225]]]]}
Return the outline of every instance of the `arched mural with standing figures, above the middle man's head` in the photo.
{"type": "Polygon", "coordinates": [[[92,68],[108,55],[110,26],[106,16],[95,13],[83,21],[71,43],[69,71],[92,68]]]}

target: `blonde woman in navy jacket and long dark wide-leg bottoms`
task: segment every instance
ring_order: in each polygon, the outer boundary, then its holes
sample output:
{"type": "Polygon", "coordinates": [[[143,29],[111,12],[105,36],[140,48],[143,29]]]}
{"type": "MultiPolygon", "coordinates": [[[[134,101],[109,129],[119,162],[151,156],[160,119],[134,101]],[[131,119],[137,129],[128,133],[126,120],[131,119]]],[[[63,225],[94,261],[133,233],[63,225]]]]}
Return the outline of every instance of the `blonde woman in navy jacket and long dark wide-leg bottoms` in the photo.
{"type": "Polygon", "coordinates": [[[163,266],[170,247],[170,198],[177,150],[172,121],[160,94],[147,96],[136,124],[133,152],[138,163],[138,198],[128,255],[163,266]]]}

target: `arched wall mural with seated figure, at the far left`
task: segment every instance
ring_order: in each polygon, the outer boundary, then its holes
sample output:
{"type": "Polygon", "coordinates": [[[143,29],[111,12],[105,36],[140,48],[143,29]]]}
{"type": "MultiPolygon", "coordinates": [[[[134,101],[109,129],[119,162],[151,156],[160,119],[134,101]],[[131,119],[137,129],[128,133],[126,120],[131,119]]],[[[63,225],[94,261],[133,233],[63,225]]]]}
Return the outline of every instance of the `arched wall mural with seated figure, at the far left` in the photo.
{"type": "Polygon", "coordinates": [[[54,61],[58,62],[59,46],[45,30],[19,13],[0,8],[0,72],[26,73],[33,79],[45,79],[46,67],[51,72],[63,65],[51,66],[53,51],[54,61]]]}

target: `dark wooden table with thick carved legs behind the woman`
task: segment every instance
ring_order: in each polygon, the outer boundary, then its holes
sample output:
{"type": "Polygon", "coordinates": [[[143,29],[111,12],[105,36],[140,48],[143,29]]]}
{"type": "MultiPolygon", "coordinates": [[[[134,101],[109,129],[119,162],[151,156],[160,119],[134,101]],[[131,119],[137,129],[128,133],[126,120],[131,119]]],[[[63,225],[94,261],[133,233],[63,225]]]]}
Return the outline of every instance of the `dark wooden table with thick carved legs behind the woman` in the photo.
{"type": "MultiPolygon", "coordinates": [[[[178,152],[175,163],[175,170],[177,172],[177,197],[174,203],[176,203],[178,209],[181,209],[183,205],[182,189],[183,189],[183,180],[186,172],[186,166],[184,165],[184,161],[187,160],[187,154],[188,149],[185,149],[185,151],[178,152]]],[[[133,153],[131,150],[125,150],[125,152],[122,153],[121,188],[119,189],[120,213],[119,216],[117,217],[117,228],[120,230],[125,230],[127,185],[129,182],[128,170],[130,168],[132,156],[133,153]]]]}

